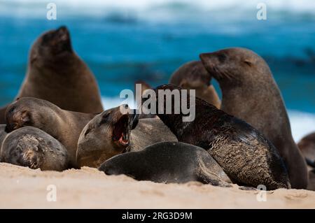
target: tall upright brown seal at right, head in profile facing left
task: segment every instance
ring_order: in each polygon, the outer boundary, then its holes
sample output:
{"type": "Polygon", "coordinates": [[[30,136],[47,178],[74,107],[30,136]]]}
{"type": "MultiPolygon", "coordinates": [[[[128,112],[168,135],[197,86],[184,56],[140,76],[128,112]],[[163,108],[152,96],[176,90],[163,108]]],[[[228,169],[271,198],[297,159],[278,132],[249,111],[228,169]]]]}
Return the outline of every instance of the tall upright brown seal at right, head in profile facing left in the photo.
{"type": "Polygon", "coordinates": [[[221,109],[265,135],[279,150],[291,186],[306,188],[307,166],[293,141],[286,107],[265,60],[244,48],[201,54],[200,58],[220,84],[221,109]]]}

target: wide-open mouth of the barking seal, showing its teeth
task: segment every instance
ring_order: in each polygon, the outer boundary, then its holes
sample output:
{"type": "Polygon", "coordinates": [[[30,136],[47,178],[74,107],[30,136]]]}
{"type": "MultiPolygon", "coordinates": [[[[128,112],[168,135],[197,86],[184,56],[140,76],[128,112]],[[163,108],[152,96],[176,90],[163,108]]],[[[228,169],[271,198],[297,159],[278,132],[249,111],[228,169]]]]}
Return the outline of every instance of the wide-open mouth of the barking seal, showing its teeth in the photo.
{"type": "Polygon", "coordinates": [[[120,143],[120,145],[129,145],[130,138],[130,119],[128,115],[123,115],[120,117],[118,122],[116,122],[113,129],[113,140],[120,143]]]}

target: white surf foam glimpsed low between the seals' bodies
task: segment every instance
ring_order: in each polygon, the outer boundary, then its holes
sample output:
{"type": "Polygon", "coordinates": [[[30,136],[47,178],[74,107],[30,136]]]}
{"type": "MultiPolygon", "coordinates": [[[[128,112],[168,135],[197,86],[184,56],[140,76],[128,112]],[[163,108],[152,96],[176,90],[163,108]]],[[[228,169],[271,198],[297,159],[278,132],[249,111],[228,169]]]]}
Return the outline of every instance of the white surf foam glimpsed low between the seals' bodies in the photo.
{"type": "MultiPolygon", "coordinates": [[[[102,99],[104,108],[109,109],[119,106],[123,103],[123,99],[103,97],[102,99]]],[[[134,106],[134,101],[128,103],[131,108],[134,106]]],[[[305,113],[299,110],[288,110],[288,116],[290,118],[290,124],[292,129],[292,135],[295,142],[300,141],[303,136],[315,131],[315,114],[305,113]]]]}

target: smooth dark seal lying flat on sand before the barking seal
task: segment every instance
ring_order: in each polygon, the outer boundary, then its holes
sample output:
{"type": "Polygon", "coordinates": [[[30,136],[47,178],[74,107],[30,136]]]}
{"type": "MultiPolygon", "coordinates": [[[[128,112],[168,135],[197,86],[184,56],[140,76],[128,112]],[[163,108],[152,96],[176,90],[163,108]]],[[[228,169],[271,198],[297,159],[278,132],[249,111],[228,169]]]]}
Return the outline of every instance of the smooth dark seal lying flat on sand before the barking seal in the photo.
{"type": "Polygon", "coordinates": [[[180,142],[155,143],[139,152],[116,155],[105,161],[99,171],[163,183],[200,181],[229,187],[231,182],[206,150],[180,142]]]}

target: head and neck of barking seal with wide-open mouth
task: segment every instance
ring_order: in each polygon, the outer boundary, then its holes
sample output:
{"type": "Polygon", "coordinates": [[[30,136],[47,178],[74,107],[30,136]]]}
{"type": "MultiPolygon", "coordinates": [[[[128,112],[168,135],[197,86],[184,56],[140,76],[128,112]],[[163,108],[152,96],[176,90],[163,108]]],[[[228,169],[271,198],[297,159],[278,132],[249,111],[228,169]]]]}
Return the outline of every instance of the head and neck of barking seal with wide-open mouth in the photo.
{"type": "Polygon", "coordinates": [[[121,106],[122,110],[120,106],[105,110],[86,124],[78,139],[78,166],[99,167],[130,146],[130,131],[137,127],[139,115],[121,106]]]}

